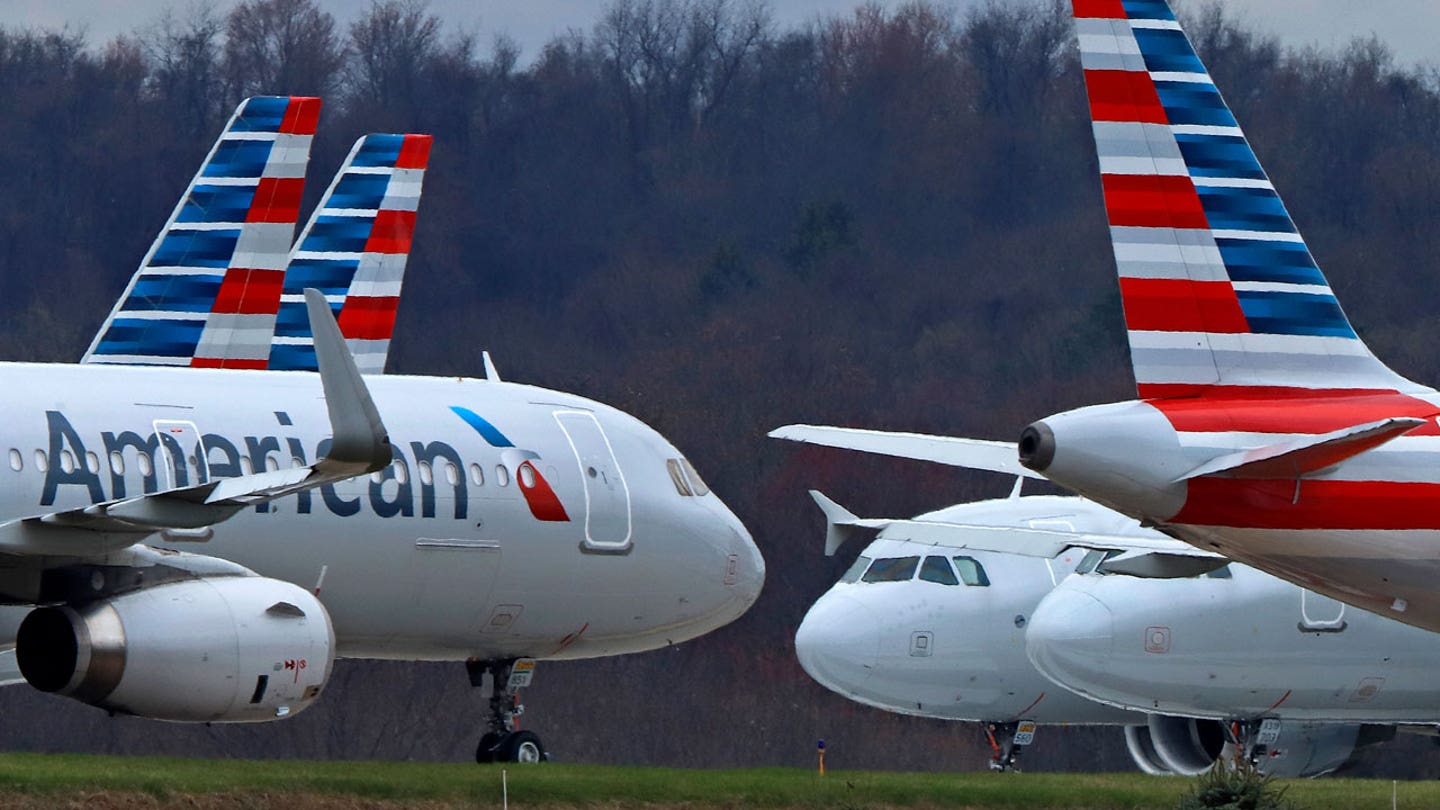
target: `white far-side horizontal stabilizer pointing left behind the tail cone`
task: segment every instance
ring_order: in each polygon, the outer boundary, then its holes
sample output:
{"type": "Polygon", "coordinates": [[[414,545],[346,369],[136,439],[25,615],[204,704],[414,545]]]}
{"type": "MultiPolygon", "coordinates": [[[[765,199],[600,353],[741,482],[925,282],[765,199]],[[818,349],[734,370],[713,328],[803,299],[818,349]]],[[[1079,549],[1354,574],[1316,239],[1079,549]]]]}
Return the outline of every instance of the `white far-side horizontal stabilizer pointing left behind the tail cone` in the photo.
{"type": "Polygon", "coordinates": [[[1043,476],[1020,466],[1015,444],[1009,441],[985,441],[979,438],[956,438],[948,435],[909,434],[890,431],[867,431],[861,428],[835,428],[825,425],[785,425],[769,432],[770,438],[783,438],[805,444],[821,444],[878,455],[935,461],[950,467],[986,470],[1007,476],[1024,476],[1044,480],[1043,476]]]}

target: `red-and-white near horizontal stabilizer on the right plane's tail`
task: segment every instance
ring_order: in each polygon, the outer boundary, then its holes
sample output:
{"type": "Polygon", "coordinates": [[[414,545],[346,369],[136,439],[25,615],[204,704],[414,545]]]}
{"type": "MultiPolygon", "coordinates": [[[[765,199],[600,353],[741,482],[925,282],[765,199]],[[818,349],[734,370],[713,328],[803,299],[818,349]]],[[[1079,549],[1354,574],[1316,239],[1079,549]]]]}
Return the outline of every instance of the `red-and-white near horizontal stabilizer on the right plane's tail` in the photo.
{"type": "Polygon", "coordinates": [[[1404,435],[1424,419],[1395,417],[1341,428],[1322,435],[1267,444],[1254,450],[1227,453],[1175,479],[1176,483],[1202,476],[1224,474],[1234,479],[1297,479],[1306,473],[1333,467],[1387,441],[1404,435]]]}

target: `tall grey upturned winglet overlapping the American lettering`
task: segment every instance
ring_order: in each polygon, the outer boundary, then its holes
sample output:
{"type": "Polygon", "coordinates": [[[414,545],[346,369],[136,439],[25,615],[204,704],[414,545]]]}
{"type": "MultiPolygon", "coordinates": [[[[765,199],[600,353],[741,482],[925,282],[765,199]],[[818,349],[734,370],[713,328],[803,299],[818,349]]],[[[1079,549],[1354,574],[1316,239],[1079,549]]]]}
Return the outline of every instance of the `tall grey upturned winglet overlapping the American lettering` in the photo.
{"type": "Polygon", "coordinates": [[[305,288],[305,308],[310,331],[315,337],[315,362],[333,431],[330,451],[315,463],[315,468],[325,474],[344,471],[351,476],[384,470],[393,461],[390,435],[346,346],[340,324],[320,290],[305,288]]]}

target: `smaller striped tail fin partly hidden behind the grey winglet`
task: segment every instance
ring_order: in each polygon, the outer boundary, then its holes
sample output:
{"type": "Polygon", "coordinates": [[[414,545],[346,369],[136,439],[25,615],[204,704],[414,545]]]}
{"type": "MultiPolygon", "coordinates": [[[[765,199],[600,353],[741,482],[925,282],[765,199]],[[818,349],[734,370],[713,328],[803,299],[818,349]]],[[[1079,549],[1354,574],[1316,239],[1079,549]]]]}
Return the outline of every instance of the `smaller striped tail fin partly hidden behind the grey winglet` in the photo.
{"type": "Polygon", "coordinates": [[[269,368],[315,370],[304,290],[324,293],[363,373],[384,372],[431,135],[366,135],[305,225],[285,272],[269,368]]]}

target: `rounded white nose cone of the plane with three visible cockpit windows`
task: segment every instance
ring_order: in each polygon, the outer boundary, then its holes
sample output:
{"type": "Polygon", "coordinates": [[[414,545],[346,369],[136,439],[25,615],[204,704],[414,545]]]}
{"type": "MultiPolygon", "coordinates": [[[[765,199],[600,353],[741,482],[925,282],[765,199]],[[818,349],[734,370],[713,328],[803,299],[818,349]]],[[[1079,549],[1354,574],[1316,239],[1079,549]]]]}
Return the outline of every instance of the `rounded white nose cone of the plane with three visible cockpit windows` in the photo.
{"type": "Polygon", "coordinates": [[[858,600],[827,594],[795,631],[795,656],[821,686],[851,695],[880,662],[880,620],[858,600]]]}

